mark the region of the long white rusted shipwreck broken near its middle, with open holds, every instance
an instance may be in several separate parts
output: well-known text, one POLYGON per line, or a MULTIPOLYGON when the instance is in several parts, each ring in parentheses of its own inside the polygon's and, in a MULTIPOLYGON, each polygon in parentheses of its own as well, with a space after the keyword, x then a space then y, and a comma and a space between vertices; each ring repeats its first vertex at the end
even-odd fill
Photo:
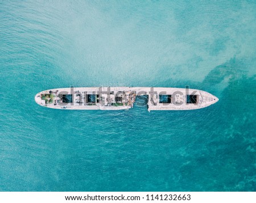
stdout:
POLYGON ((218 98, 208 92, 171 87, 70 87, 39 92, 35 102, 55 109, 70 110, 121 110, 147 105, 153 110, 191 110, 208 107, 218 98))

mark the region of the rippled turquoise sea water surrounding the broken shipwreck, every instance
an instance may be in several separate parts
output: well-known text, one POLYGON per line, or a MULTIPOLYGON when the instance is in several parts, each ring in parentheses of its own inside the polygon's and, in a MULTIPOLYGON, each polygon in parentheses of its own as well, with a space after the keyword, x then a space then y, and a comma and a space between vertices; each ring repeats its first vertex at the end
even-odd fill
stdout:
POLYGON ((0 3, 0 191, 256 191, 255 1, 0 3), (69 86, 199 88, 196 111, 59 111, 69 86))

